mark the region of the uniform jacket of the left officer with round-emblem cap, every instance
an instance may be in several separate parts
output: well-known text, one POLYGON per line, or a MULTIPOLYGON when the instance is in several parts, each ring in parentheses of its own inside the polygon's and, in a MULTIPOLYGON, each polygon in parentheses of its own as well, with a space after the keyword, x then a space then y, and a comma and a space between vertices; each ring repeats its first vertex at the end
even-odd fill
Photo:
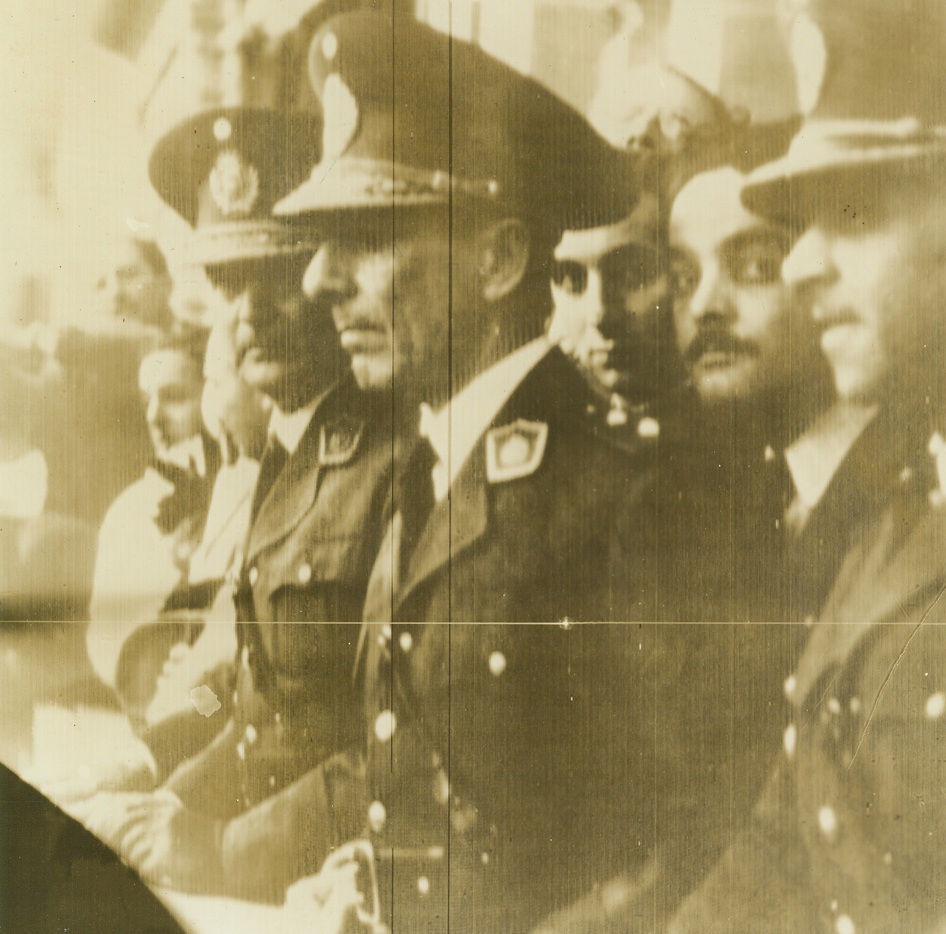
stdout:
POLYGON ((359 627, 344 623, 361 617, 383 531, 393 456, 384 412, 353 382, 330 391, 262 501, 236 600, 231 723, 170 779, 185 803, 232 818, 224 863, 243 895, 281 899, 353 829, 345 809, 360 796, 362 765, 346 750, 361 739, 359 627))

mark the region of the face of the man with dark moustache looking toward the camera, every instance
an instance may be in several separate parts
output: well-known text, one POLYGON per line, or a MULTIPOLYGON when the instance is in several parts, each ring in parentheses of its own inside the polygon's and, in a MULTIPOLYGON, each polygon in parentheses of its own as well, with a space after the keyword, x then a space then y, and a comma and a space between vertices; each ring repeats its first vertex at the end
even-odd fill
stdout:
POLYGON ((791 312, 782 281, 789 234, 742 206, 742 184, 733 168, 704 172, 670 214, 677 346, 707 403, 777 392, 816 359, 810 319, 791 312))

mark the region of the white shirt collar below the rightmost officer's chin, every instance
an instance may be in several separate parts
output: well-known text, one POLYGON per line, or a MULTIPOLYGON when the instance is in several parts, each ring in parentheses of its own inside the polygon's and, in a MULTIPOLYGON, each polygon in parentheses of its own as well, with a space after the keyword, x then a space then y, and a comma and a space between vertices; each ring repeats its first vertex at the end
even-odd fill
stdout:
POLYGON ((877 415, 878 406, 836 402, 785 449, 785 462, 799 500, 811 510, 821 501, 854 443, 877 415))

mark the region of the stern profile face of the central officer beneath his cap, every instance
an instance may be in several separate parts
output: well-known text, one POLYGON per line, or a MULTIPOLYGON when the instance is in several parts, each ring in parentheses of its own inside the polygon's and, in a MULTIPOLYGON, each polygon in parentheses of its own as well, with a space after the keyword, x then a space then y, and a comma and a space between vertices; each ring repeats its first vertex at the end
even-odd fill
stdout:
POLYGON ((469 294, 465 238, 451 238, 439 207, 344 212, 331 224, 304 290, 331 309, 358 385, 442 396, 451 347, 462 343, 450 322, 462 322, 469 294))

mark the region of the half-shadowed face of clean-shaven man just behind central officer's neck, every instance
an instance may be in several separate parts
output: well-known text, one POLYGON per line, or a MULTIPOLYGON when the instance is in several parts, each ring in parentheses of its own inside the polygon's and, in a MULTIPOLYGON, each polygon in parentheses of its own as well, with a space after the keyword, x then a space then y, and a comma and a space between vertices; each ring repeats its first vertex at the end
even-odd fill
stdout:
POLYGON ((555 248, 549 335, 607 389, 654 388, 661 306, 668 313, 663 241, 657 198, 645 193, 625 221, 566 231, 555 248))

